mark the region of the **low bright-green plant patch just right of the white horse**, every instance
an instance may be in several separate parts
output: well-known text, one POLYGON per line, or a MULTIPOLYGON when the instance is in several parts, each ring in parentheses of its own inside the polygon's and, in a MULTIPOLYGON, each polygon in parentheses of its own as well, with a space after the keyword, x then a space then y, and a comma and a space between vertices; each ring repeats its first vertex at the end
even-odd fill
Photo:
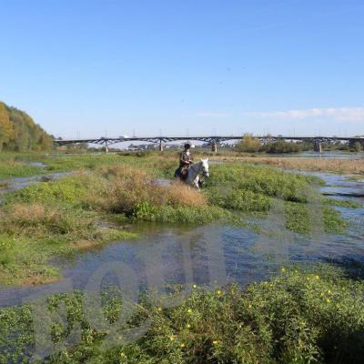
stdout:
MULTIPOLYGON (((308 213, 312 197, 322 200, 323 205, 357 207, 348 201, 337 204, 336 200, 321 198, 318 187, 323 181, 317 177, 294 175, 274 167, 231 163, 212 167, 211 176, 205 192, 211 205, 267 217, 278 198, 285 201, 282 218, 286 219, 286 227, 298 234, 312 230, 308 213)), ((332 207, 318 205, 316 208, 321 210, 325 232, 340 234, 348 227, 332 207)))

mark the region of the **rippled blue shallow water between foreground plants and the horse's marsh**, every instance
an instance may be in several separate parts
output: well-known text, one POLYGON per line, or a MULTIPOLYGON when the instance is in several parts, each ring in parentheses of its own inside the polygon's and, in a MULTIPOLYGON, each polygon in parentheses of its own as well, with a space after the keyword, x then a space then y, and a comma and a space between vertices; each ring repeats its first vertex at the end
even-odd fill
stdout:
MULTIPOLYGON (((364 181, 350 181, 345 176, 326 173, 310 174, 326 180, 327 186, 321 192, 364 204, 364 181)), ((116 277, 119 285, 135 280, 137 289, 191 282, 214 285, 237 281, 246 285, 267 278, 289 262, 354 260, 364 263, 364 205, 338 209, 349 219, 349 230, 343 235, 317 233, 311 238, 285 231, 283 219, 274 214, 262 221, 272 232, 269 236, 247 228, 219 225, 136 226, 142 230, 142 238, 115 242, 55 261, 64 276, 56 284, 0 288, 0 307, 19 304, 33 295, 88 289, 94 284, 106 287, 115 284, 116 277), (114 273, 107 273, 108 268, 114 273)))

